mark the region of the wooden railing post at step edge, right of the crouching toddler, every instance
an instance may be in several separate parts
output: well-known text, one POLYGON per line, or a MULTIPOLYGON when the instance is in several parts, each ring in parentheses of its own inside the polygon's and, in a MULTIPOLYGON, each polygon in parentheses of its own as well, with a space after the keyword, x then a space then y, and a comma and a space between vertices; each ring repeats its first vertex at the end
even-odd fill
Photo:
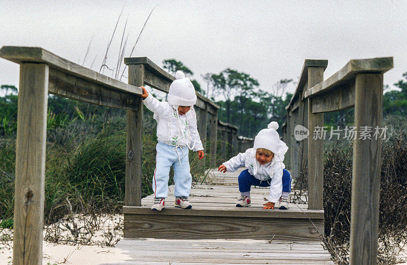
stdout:
MULTIPOLYGON (((308 87, 324 81, 324 67, 308 67, 308 87)), ((313 139, 315 127, 324 126, 324 113, 312 113, 308 99, 308 209, 324 209, 324 140, 313 139)))

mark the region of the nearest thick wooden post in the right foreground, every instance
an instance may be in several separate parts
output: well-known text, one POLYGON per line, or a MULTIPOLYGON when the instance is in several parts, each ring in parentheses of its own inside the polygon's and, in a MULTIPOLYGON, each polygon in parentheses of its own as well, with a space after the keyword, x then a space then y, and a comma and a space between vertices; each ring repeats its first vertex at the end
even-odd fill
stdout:
POLYGON ((358 74, 355 87, 350 263, 376 264, 382 141, 373 132, 383 126, 383 74, 358 74), (363 126, 371 139, 361 137, 363 126))

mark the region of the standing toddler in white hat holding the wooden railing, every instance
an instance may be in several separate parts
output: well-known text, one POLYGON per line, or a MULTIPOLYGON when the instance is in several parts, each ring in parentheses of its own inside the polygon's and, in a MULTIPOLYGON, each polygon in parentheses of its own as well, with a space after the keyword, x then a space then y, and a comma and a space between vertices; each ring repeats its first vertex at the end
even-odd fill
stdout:
POLYGON ((195 89, 182 71, 177 71, 175 77, 176 80, 169 86, 168 102, 158 101, 146 88, 141 87, 143 103, 157 120, 158 143, 153 176, 155 200, 151 207, 155 211, 161 211, 165 207, 171 165, 174 169, 175 206, 192 208, 188 200, 192 184, 188 149, 198 152, 198 159, 202 159, 204 155, 193 108, 196 103, 195 89))

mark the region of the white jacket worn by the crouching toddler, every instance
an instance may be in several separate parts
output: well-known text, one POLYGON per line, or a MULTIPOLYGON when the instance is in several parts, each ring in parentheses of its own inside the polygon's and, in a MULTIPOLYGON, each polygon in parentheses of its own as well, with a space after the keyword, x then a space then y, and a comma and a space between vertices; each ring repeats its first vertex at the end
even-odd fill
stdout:
POLYGON ((270 181, 271 179, 269 202, 278 202, 283 190, 281 179, 285 165, 277 156, 274 156, 270 163, 261 165, 256 159, 256 150, 249 148, 246 152, 239 153, 237 156, 230 158, 223 165, 229 172, 234 172, 241 167, 245 167, 258 180, 270 181))

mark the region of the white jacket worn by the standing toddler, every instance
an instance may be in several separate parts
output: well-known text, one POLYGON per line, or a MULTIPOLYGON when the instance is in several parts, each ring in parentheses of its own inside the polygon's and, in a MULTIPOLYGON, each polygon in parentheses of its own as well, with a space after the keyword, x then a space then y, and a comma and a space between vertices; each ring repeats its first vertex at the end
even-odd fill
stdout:
POLYGON ((193 106, 186 114, 180 116, 178 110, 166 101, 158 101, 151 93, 143 100, 144 105, 154 112, 157 121, 157 138, 171 146, 188 146, 194 152, 203 150, 193 106))

